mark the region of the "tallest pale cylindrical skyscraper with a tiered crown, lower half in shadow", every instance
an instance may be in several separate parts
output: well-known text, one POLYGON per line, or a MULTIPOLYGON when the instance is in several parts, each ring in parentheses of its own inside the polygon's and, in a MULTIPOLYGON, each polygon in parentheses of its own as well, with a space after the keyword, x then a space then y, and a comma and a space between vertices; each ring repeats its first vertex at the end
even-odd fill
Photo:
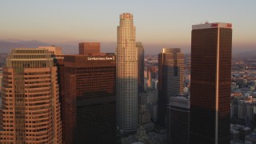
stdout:
POLYGON ((138 49, 132 14, 120 14, 116 54, 117 126, 134 133, 138 127, 138 49))

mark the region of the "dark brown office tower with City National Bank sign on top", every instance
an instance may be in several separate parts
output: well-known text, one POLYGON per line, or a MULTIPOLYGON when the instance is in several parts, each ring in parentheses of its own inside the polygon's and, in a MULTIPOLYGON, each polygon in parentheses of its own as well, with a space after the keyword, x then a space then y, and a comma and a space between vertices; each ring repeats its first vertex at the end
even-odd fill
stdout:
POLYGON ((115 55, 66 55, 64 70, 63 143, 115 143, 115 55))

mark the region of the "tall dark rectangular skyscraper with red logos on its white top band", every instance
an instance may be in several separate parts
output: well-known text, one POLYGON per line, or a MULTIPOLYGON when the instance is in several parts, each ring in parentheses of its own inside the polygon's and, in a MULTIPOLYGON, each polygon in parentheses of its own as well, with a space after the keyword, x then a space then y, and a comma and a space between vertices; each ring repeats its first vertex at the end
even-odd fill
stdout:
POLYGON ((231 27, 192 26, 190 143, 230 143, 231 27))

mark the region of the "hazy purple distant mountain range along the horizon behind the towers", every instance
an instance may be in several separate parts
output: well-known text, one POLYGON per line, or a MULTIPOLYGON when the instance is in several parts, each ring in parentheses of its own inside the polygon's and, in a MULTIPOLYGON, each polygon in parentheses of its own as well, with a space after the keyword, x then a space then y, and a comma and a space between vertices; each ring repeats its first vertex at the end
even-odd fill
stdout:
MULTIPOLYGON (((61 46, 63 54, 78 54, 78 42, 63 42, 50 44, 47 42, 40 42, 38 40, 22 41, 18 39, 0 39, 0 53, 10 53, 11 49, 18 47, 38 47, 38 46, 61 46)), ((145 54, 158 54, 162 50, 162 45, 160 44, 143 44, 145 48, 145 54)), ((101 50, 105 53, 114 53, 116 48, 116 42, 101 42, 101 50)), ((183 53, 190 54, 190 48, 182 48, 183 53), (184 51, 185 50, 185 51, 184 51)), ((256 57, 256 50, 250 50, 245 52, 239 52, 238 48, 233 49, 233 55, 237 57, 256 57)), ((241 51, 241 50, 240 50, 241 51)))

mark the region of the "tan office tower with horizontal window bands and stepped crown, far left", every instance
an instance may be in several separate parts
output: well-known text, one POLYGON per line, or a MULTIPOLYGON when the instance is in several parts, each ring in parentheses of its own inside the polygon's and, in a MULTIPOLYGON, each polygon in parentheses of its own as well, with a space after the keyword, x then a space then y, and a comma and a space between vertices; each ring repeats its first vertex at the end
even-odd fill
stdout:
POLYGON ((45 49, 14 49, 2 78, 0 143, 62 143, 58 75, 45 49))

